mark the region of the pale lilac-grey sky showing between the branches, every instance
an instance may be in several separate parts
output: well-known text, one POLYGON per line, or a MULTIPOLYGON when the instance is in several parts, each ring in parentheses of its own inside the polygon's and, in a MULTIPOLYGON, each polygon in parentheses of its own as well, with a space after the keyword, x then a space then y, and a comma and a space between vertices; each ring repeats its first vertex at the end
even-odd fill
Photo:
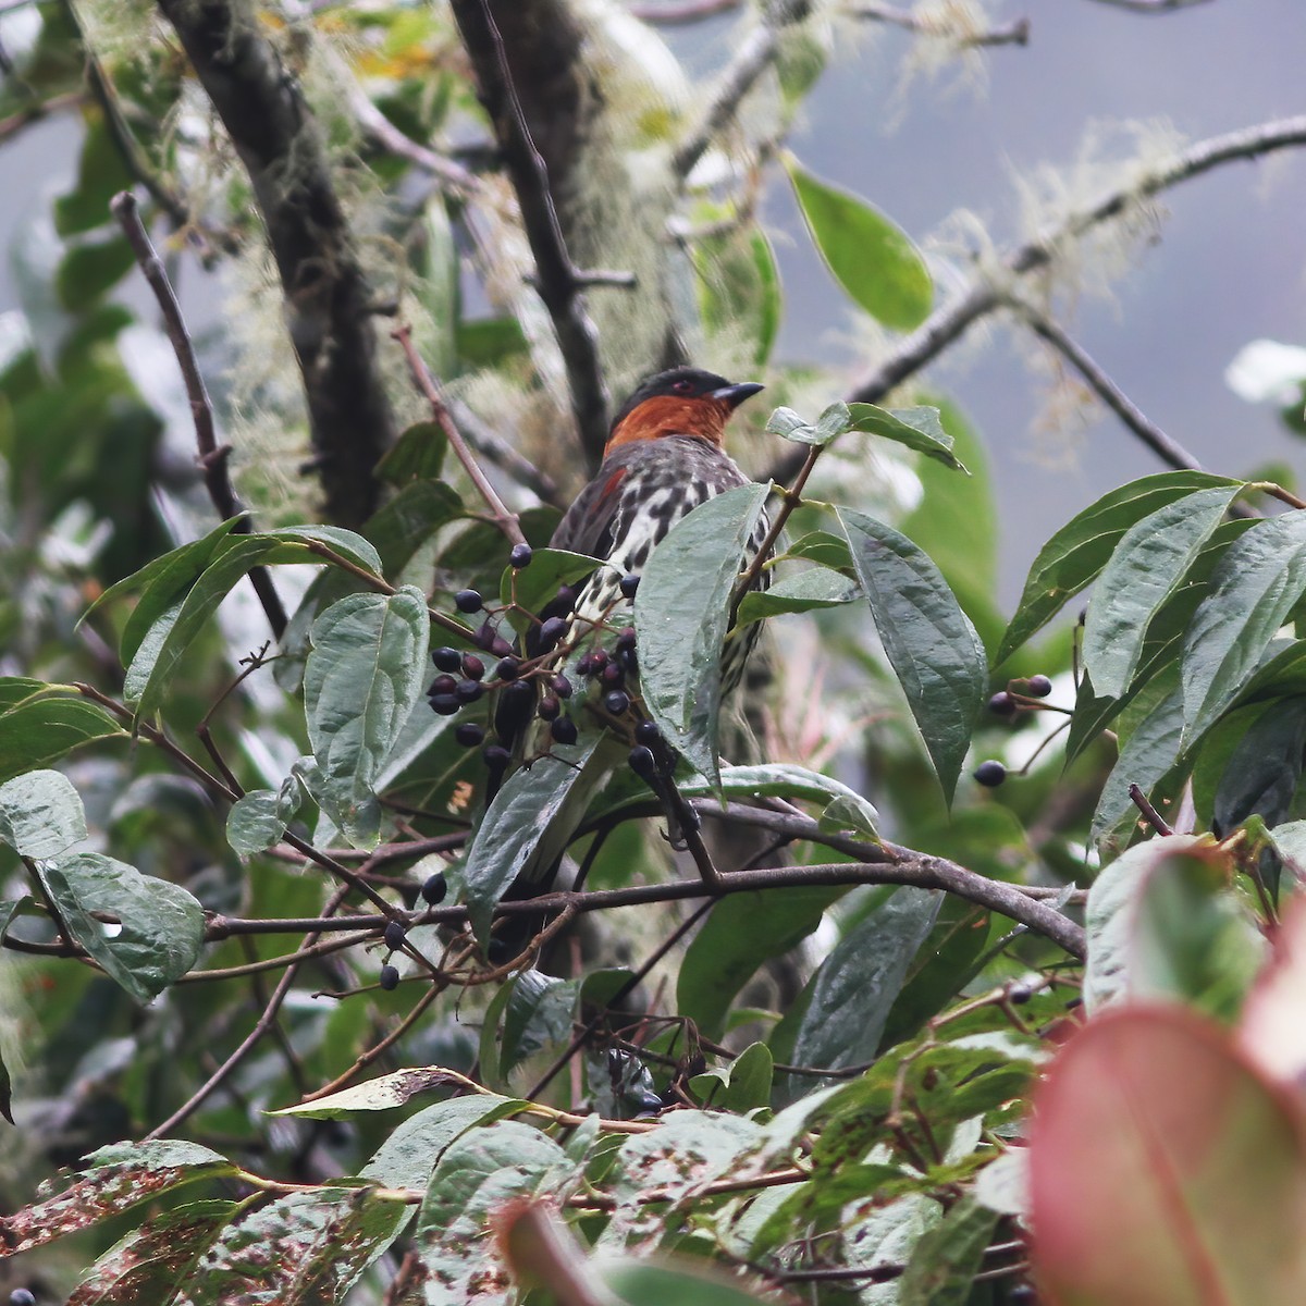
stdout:
MULTIPOLYGON (((1007 0, 998 21, 1025 16, 1029 46, 987 51, 987 88, 955 88, 944 71, 896 99, 910 38, 876 33, 837 60, 793 138, 803 163, 878 204, 923 238, 953 209, 977 213, 1000 244, 1019 238, 1013 170, 1074 159, 1091 120, 1168 119, 1191 140, 1306 111, 1306 0, 1209 0, 1138 14, 1098 0, 1007 0), (895 116, 901 121, 887 129, 895 116)), ((700 73, 729 59, 729 20, 670 31, 700 73)), ((76 166, 71 120, 29 128, 5 146, 0 244, 76 166)), ((1306 445, 1269 407, 1225 385, 1249 341, 1306 345, 1306 149, 1233 165, 1169 192, 1160 243, 1115 283, 1115 303, 1085 300, 1081 343, 1168 434, 1212 470, 1289 462, 1306 481, 1306 445)), ((772 187, 765 213, 794 234, 777 240, 786 315, 777 357, 848 363, 841 293, 801 234, 793 201, 772 187)), ((191 286, 193 287, 193 278, 191 286)), ((189 287, 188 287, 189 289, 189 287)), ((193 291, 192 291, 193 294, 193 291)), ((188 296, 189 298, 189 296, 188 296)), ((8 264, 0 311, 14 303, 8 264)), ((985 435, 998 471, 1003 603, 1011 607, 1038 545, 1113 486, 1161 470, 1111 418, 1084 438, 1077 461, 1036 461, 1030 424, 1040 388, 1010 337, 965 349, 934 375, 985 435)))

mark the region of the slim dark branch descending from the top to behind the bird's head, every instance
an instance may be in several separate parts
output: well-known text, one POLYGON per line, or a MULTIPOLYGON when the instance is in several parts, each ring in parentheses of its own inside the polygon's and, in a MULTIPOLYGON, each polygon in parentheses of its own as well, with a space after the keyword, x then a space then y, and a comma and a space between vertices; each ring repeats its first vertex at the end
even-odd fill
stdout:
POLYGON ((607 388, 598 359, 598 336, 585 310, 582 278, 567 252, 549 170, 530 136, 488 0, 452 0, 452 9, 475 68, 481 103, 490 115, 517 193, 526 240, 535 260, 537 289, 567 368, 581 445, 597 461, 607 441, 607 388))

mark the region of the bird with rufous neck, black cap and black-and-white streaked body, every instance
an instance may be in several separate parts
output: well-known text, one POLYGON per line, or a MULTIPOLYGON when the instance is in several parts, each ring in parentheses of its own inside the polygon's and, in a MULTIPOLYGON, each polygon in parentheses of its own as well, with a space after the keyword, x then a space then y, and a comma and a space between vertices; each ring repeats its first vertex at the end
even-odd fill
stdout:
MULTIPOLYGON (((653 549, 682 517, 716 495, 750 483, 725 451, 725 432, 735 409, 763 388, 756 381, 731 383, 696 367, 674 367, 646 377, 616 410, 598 470, 554 530, 549 542, 551 549, 597 558, 601 565, 577 590, 564 588, 560 606, 546 607, 539 614, 539 624, 528 635, 528 660, 546 657, 550 652, 555 654, 551 663, 546 661, 546 674, 537 677, 537 683, 560 673, 572 658, 571 667, 582 675, 596 675, 601 666, 606 675, 602 683, 615 686, 618 705, 629 703, 629 708, 614 713, 607 708, 610 696, 599 696, 607 708, 605 739, 589 754, 582 776, 568 791, 565 807, 541 833, 504 895, 505 900, 547 892, 562 854, 594 797, 622 757, 629 756, 633 765, 631 744, 640 738, 641 712, 633 629, 629 627, 639 575, 653 549), (605 645, 611 646, 611 653, 605 645), (599 652, 582 656, 577 667, 575 654, 582 648, 599 652), (586 657, 590 660, 588 666, 586 657)), ((763 547, 768 530, 769 522, 763 513, 750 539, 747 560, 751 562, 763 547)), ((764 586, 768 579, 763 571, 755 584, 764 586)), ((757 632, 755 623, 726 641, 721 658, 722 696, 738 686, 757 632)), ((518 687, 508 687, 495 717, 499 755, 504 761, 508 750, 515 748, 518 764, 530 767, 534 757, 549 751, 550 737, 563 744, 575 742, 572 717, 556 714, 556 700, 549 708, 549 725, 543 730, 537 725, 532 733, 530 721, 537 709, 541 717, 545 716, 545 701, 538 697, 534 684, 530 692, 520 682, 518 687)), ((662 802, 669 838, 678 846, 683 824, 696 823, 697 818, 679 798, 670 778, 674 756, 665 744, 658 752, 656 772, 644 778, 662 802)), ((494 806, 491 801, 486 821, 494 806)), ((515 943, 521 942, 520 930, 503 934, 511 934, 515 943)))

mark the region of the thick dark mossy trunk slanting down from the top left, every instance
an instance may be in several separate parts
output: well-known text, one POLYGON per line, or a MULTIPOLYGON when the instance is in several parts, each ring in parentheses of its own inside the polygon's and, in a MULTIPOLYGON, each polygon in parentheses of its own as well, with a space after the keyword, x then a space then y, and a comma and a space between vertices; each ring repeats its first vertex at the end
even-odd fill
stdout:
POLYGON ((330 517, 359 526, 394 434, 376 338, 326 150, 249 0, 158 0, 249 172, 303 375, 330 517))

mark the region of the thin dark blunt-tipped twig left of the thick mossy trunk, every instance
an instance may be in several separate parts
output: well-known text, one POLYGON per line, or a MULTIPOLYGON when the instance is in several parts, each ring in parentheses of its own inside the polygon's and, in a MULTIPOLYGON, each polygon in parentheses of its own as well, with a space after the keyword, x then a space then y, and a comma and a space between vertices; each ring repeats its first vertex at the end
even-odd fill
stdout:
MULTIPOLYGON (((204 486, 209 491, 209 499, 218 516, 226 521, 244 512, 244 508, 236 499, 231 478, 227 475, 227 456, 231 453, 231 447, 218 445, 213 422, 213 404, 209 401, 209 390, 204 384, 204 375, 200 372, 200 360, 195 355, 195 343, 187 330, 185 320, 182 317, 182 306, 176 300, 172 283, 167 279, 163 260, 155 253, 145 223, 141 221, 136 196, 131 191, 120 191, 108 201, 108 208, 118 218, 159 306, 163 328, 167 332, 172 353, 176 355, 178 366, 182 368, 185 397, 191 402, 191 419, 195 422, 195 443, 199 448, 197 461, 204 474, 204 486)), ((242 517, 232 528, 232 534, 249 534, 251 530, 249 518, 242 517)), ((279 640, 286 629, 286 609, 272 582, 268 568, 251 567, 249 584, 253 585, 253 592, 259 596, 259 603, 268 618, 272 633, 279 640)))

